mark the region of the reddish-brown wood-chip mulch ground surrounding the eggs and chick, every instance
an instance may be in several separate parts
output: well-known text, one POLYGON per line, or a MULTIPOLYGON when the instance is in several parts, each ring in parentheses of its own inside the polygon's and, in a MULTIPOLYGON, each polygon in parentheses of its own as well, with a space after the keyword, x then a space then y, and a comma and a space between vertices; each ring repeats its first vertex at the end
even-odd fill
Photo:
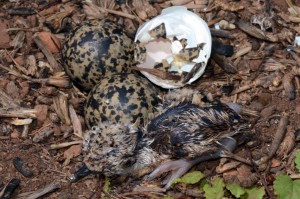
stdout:
POLYGON ((255 142, 237 150, 248 164, 226 158, 193 169, 208 179, 219 175, 226 183, 264 185, 269 198, 277 174, 299 178, 294 165, 300 144, 298 1, 5 0, 0 5, 1 198, 204 197, 196 185, 178 184, 165 192, 158 182, 142 179, 112 179, 107 185, 100 177, 101 186, 96 177, 69 181, 83 160, 88 93, 64 73, 60 52, 66 33, 84 20, 110 19, 134 37, 144 22, 174 5, 201 16, 213 39, 234 51, 213 54, 204 76, 189 87, 260 113, 250 119, 255 142))

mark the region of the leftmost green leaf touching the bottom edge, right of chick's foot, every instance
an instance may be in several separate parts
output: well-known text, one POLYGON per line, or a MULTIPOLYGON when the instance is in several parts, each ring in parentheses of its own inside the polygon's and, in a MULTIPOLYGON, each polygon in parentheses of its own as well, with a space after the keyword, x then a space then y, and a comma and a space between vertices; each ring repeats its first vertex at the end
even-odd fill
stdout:
POLYGON ((211 185, 205 184, 203 190, 205 192, 206 199, 221 199, 224 196, 225 184, 223 179, 217 178, 211 181, 211 185))

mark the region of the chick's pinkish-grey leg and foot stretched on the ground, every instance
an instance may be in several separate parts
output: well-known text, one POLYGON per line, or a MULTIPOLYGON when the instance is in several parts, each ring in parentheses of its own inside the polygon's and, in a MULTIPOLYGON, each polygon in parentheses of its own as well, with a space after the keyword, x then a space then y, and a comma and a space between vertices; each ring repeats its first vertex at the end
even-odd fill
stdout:
POLYGON ((219 141, 221 149, 217 152, 209 155, 203 155, 194 160, 175 160, 169 161, 158 166, 149 176, 148 180, 153 180, 163 173, 170 172, 168 176, 162 181, 162 184, 165 185, 165 188, 168 189, 172 185, 172 182, 175 178, 179 178, 184 175, 188 170, 190 170, 193 166, 199 164, 200 162, 214 160, 222 157, 224 154, 223 151, 232 152, 237 145, 237 142, 232 137, 227 137, 219 141))

